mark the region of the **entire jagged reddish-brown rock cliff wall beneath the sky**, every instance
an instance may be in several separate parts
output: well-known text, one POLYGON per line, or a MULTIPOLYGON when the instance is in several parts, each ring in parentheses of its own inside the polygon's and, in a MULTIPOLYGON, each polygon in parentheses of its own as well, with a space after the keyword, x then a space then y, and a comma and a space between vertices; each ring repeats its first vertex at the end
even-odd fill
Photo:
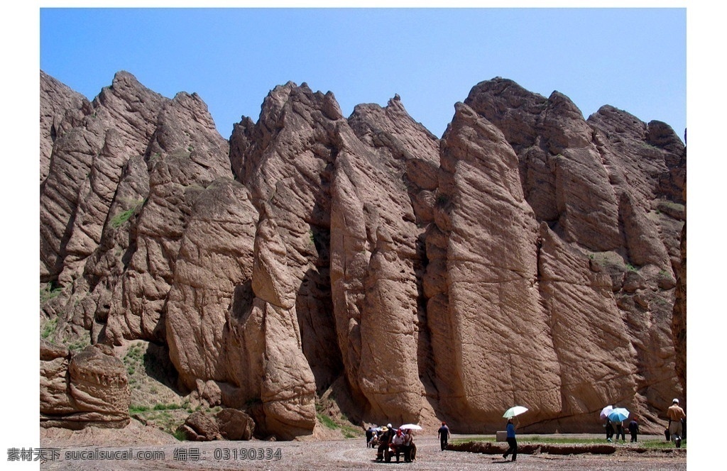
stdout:
MULTIPOLYGON (((525 431, 581 432, 614 403, 656 430, 686 394, 667 124, 496 78, 438 139, 398 96, 346 118, 288 83, 225 139, 201 97, 126 72, 91 102, 40 92, 48 358, 149 342, 177 395, 283 439, 324 397, 356 424, 494 431, 519 404, 525 431)), ((78 417, 53 397, 45 420, 78 417)))

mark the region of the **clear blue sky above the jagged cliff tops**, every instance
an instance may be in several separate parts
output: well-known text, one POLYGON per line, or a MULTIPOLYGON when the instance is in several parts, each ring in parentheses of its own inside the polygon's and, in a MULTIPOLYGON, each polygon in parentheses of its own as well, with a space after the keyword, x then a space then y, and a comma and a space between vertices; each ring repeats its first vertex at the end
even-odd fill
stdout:
POLYGON ((566 94, 587 118, 613 105, 686 127, 686 9, 40 10, 40 67, 89 98, 125 70, 197 92, 223 137, 268 91, 308 83, 345 116, 399 94, 441 136, 479 81, 566 94))

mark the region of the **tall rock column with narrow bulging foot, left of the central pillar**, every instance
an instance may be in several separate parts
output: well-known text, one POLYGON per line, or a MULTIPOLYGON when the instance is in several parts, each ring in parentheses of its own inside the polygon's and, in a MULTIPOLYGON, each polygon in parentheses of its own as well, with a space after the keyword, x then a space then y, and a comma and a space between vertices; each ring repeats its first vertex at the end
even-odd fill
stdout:
POLYGON ((257 383, 248 394, 262 402, 264 427, 284 438, 312 432, 315 375, 326 387, 340 369, 326 286, 330 136, 338 119, 332 94, 289 83, 268 94, 256 125, 244 120, 230 138, 233 170, 260 212, 254 298, 241 307, 246 322, 230 323, 233 345, 258 345, 243 349, 252 368, 233 374, 238 385, 257 383))

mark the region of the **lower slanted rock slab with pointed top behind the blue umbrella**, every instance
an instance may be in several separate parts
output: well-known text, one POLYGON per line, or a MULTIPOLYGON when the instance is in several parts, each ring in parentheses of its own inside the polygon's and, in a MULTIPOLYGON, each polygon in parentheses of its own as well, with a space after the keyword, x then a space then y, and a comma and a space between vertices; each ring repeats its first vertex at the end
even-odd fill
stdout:
POLYGON ((611 278, 593 271, 582 252, 564 243, 545 223, 540 226, 538 270, 560 366, 561 427, 578 427, 569 422, 602 407, 604 400, 628 401, 624 405, 632 408, 636 352, 616 306, 611 278))

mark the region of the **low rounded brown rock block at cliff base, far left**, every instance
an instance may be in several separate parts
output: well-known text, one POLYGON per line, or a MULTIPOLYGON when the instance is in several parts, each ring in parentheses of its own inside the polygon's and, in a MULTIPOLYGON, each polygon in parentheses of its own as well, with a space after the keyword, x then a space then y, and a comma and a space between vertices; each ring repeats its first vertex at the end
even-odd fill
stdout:
POLYGON ((108 345, 79 353, 41 339, 41 426, 81 429, 129 424, 126 369, 108 345))

